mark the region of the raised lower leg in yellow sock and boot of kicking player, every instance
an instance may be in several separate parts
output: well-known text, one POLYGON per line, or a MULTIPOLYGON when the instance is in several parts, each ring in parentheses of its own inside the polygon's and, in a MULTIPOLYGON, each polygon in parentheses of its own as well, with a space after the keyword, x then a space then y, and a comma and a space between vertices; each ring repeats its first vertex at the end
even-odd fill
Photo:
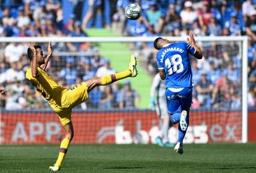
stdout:
POLYGON ((134 78, 138 74, 136 65, 137 65, 136 57, 134 57, 134 55, 131 55, 129 67, 126 71, 122 71, 121 73, 108 74, 106 76, 103 76, 101 78, 100 85, 105 86, 105 85, 111 84, 115 81, 118 81, 120 79, 124 79, 127 77, 134 78))

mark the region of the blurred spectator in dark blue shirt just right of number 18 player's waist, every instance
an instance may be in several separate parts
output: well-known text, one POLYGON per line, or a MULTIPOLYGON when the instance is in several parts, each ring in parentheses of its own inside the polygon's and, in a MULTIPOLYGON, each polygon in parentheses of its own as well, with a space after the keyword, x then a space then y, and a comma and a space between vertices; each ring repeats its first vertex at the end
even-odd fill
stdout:
POLYGON ((200 105, 202 107, 210 107, 213 84, 211 84, 211 81, 208 81, 207 73, 201 73, 201 80, 197 82, 195 91, 197 91, 197 99, 200 105))

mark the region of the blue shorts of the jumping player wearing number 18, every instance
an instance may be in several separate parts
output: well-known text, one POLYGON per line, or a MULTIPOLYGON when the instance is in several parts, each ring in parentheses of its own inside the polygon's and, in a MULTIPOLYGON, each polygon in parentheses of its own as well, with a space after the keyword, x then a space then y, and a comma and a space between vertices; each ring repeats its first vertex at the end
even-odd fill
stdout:
POLYGON ((185 87, 182 91, 173 92, 166 89, 166 102, 168 107, 168 113, 174 114, 182 110, 189 111, 192 104, 192 87, 185 87))

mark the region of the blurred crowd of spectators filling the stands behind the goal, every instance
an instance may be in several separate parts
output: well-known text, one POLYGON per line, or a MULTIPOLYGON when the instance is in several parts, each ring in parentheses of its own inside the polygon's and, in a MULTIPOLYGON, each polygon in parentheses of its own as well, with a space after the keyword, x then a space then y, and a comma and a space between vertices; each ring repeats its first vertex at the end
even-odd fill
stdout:
MULTIPOLYGON (((6 1, 7 2, 7 1, 6 1)), ((9 2, 9 1, 8 1, 9 2)), ((249 36, 249 107, 256 107, 256 1, 176 1, 176 0, 92 0, 87 12, 81 9, 87 1, 69 1, 74 11, 67 14, 67 1, 24 0, 1 4, 0 36, 49 37, 88 36, 87 28, 113 28, 123 36, 249 36), (126 20, 124 8, 130 2, 142 7, 142 18, 126 20)), ((46 49, 46 45, 42 45, 46 49)), ((194 96, 192 108, 241 108, 241 52, 237 42, 204 42, 200 44, 203 60, 192 58, 194 96)), ((149 74, 157 71, 156 50, 152 42, 137 42, 134 46, 142 65, 149 74)), ((48 108, 48 103, 25 80, 29 67, 27 46, 20 43, 1 43, 0 84, 6 94, 0 96, 0 107, 7 110, 48 108)), ((90 43, 55 43, 54 52, 77 52, 83 55, 54 54, 48 67, 49 74, 59 84, 72 87, 92 76, 114 73, 111 62, 101 57, 90 43), (59 73, 51 73, 59 71, 59 73)), ((86 108, 139 108, 140 95, 124 86, 97 88, 89 100, 80 106, 86 108)), ((150 101, 150 100, 149 100, 150 101)))

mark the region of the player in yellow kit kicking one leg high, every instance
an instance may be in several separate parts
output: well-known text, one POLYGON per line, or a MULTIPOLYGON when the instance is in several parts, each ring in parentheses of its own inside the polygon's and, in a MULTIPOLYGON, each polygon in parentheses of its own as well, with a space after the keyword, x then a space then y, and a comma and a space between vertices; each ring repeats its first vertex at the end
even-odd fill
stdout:
POLYGON ((129 68, 121 73, 109 74, 101 78, 93 77, 88 81, 81 82, 72 89, 59 86, 54 79, 46 73, 45 69, 49 58, 53 52, 50 42, 48 43, 48 55, 45 57, 41 47, 33 46, 31 42, 27 42, 29 47, 27 50, 30 59, 30 68, 26 72, 26 78, 33 84, 36 91, 45 97, 49 105, 58 114, 64 131, 65 138, 61 142, 59 156, 54 164, 50 166, 51 171, 58 171, 61 168, 64 156, 67 153, 70 141, 74 137, 74 130, 71 121, 72 108, 76 107, 88 99, 88 92, 96 86, 105 86, 120 79, 137 76, 137 62, 134 55, 130 57, 129 68))

